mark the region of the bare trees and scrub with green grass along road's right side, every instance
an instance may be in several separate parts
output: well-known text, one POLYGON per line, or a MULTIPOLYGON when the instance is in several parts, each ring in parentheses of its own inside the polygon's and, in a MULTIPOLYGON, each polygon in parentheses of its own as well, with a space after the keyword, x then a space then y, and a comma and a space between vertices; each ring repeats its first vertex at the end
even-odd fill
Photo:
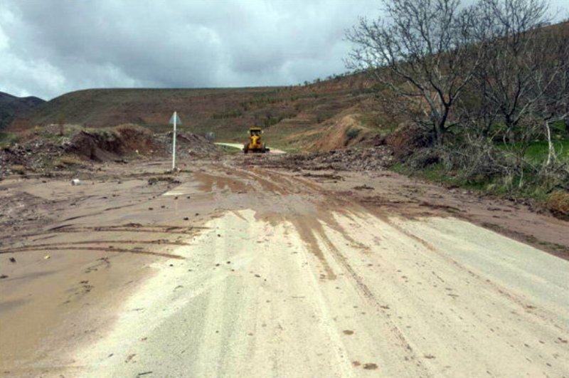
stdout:
POLYGON ((544 0, 384 5, 347 33, 349 68, 404 117, 395 169, 569 216, 569 24, 544 0))

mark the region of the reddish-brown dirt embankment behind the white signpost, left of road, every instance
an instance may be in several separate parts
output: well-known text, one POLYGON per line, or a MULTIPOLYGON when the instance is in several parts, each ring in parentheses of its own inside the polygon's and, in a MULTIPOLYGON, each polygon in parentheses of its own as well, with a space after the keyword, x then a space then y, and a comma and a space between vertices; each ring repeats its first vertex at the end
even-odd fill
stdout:
MULTIPOLYGON (((0 150, 0 176, 39 173, 87 167, 92 162, 125 162, 127 159, 167 157, 172 149, 172 132, 156 134, 137 125, 88 130, 50 125, 24 132, 22 142, 0 150)), ((179 132, 176 154, 217 154, 216 146, 204 137, 179 132)))

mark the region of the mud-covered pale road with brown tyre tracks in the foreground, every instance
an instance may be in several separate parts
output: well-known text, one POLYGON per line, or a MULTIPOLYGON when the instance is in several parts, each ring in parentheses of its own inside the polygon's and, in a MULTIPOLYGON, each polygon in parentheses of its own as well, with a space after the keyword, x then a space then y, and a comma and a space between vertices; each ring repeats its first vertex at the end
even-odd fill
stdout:
POLYGON ((569 375, 567 222, 263 159, 0 182, 0 374, 569 375))

